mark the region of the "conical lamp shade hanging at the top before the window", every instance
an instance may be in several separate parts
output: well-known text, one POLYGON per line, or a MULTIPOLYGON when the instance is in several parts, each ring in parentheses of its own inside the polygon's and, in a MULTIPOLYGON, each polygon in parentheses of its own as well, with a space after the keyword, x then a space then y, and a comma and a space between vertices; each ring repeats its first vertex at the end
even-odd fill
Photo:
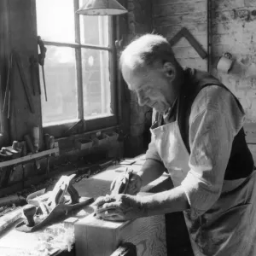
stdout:
POLYGON ((88 0, 76 13, 79 15, 123 15, 127 12, 127 9, 116 0, 88 0))

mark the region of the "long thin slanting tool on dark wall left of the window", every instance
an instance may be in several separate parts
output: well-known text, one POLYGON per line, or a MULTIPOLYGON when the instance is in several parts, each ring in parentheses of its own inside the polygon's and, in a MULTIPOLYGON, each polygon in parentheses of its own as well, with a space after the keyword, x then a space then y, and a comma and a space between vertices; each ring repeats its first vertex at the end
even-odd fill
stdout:
POLYGON ((31 113, 35 113, 35 108, 34 108, 34 105, 33 105, 33 102, 32 102, 32 96, 31 96, 29 87, 26 83, 25 72, 24 72, 24 69, 23 69, 21 61, 20 61, 20 55, 15 50, 13 50, 13 59, 14 59, 16 65, 17 65, 19 73, 20 73, 20 78, 21 78, 23 88, 24 88, 25 94, 26 94, 26 101, 28 103, 30 111, 31 111, 31 113))

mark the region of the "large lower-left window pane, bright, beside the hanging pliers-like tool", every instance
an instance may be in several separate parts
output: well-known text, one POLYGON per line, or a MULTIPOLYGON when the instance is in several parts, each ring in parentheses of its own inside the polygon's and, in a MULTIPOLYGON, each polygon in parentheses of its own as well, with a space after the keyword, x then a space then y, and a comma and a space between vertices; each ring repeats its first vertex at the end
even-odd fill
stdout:
POLYGON ((40 67, 43 124, 67 123, 78 118, 78 91, 75 49, 47 46, 44 74, 48 101, 45 102, 40 67))

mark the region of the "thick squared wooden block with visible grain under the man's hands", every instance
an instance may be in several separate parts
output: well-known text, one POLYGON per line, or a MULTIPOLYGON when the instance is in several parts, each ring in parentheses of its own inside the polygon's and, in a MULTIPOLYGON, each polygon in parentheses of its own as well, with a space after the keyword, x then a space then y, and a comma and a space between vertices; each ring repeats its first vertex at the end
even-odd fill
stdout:
POLYGON ((96 219, 91 214, 74 228, 77 256, 109 256, 124 242, 137 247, 137 256, 167 255, 164 215, 120 223, 96 219))

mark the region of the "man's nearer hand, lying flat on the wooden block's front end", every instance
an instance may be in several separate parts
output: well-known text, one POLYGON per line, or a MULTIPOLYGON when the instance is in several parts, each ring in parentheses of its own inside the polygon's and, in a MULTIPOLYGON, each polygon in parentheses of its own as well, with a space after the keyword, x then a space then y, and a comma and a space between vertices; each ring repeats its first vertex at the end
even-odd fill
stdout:
POLYGON ((107 195, 99 197, 92 205, 96 218, 125 221, 147 216, 143 198, 135 195, 107 195))

